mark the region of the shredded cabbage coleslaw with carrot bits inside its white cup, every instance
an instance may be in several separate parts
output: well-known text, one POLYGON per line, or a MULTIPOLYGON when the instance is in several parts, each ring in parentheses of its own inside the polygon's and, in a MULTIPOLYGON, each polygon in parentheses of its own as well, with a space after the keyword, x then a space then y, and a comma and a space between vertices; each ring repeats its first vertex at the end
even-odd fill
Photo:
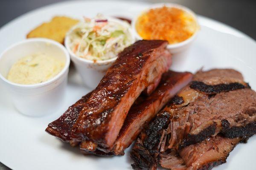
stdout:
POLYGON ((132 43, 128 23, 107 20, 101 14, 95 18, 84 18, 69 33, 70 48, 79 57, 90 60, 106 60, 132 43))

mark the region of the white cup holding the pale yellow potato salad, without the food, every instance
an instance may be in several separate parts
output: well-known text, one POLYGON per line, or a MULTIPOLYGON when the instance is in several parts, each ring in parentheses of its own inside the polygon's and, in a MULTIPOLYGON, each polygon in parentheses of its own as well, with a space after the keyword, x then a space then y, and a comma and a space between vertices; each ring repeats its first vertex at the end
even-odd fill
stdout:
POLYGON ((44 38, 32 38, 15 43, 0 55, 0 79, 18 111, 27 116, 45 116, 55 113, 63 102, 69 65, 70 57, 63 45, 44 38), (18 59, 38 53, 61 60, 65 63, 64 68, 52 79, 32 85, 17 84, 6 79, 18 59))

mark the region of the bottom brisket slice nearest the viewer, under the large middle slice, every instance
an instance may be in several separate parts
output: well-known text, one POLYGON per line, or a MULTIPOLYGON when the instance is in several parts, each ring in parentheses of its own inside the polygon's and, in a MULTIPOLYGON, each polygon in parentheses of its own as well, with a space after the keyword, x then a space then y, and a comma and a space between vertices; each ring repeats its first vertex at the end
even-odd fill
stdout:
POLYGON ((241 138, 208 137, 179 151, 160 154, 159 163, 171 170, 210 170, 226 162, 229 153, 241 138))

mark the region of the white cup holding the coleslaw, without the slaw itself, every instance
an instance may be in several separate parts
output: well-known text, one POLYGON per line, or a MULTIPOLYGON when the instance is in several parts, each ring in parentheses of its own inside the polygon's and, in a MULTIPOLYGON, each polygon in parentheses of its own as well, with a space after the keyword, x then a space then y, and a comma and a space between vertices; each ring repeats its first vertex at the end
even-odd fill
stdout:
MULTIPOLYGON (((111 22, 119 23, 126 28, 128 27, 128 32, 129 34, 131 34, 132 43, 135 42, 134 34, 131 31, 131 28, 129 28, 130 26, 127 22, 113 18, 113 17, 106 17, 106 18, 111 22)), ((76 26, 71 28, 70 32, 73 31, 73 29, 75 28, 76 26)), ((111 59, 99 60, 96 62, 93 62, 92 60, 89 60, 89 59, 78 57, 70 49, 70 38, 68 35, 69 35, 69 32, 67 33, 65 38, 65 46, 67 47, 67 50, 70 53, 71 60, 72 62, 74 62, 76 70, 81 76, 84 85, 86 85, 90 89, 94 89, 99 84, 100 80, 105 75, 106 71, 111 66, 111 64, 116 60, 117 56, 111 59)))

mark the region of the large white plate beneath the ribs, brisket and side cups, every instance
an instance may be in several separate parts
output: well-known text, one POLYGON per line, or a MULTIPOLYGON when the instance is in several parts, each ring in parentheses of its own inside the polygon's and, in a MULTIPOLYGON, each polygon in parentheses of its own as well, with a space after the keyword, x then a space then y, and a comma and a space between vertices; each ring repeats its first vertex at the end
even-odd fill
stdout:
MULTIPOLYGON (((25 39, 32 28, 55 15, 81 18, 81 15, 93 17, 101 12, 132 18, 145 6, 143 3, 75 1, 40 8, 18 17, 0 29, 0 52, 12 43, 25 39)), ((256 89, 256 42, 234 28, 208 18, 200 16, 199 23, 201 31, 186 55, 186 60, 176 56, 172 69, 194 72, 203 66, 236 68, 256 89)), ((125 156, 111 158, 83 156, 78 148, 72 148, 44 132, 49 122, 57 119, 68 106, 88 91, 81 86, 80 77, 71 69, 63 107, 51 116, 31 118, 15 110, 3 85, 0 85, 0 161, 13 170, 131 169, 128 150, 125 156)), ((255 153, 256 136, 253 136, 247 144, 239 144, 230 153, 226 164, 214 170, 252 170, 255 168, 255 153)))

